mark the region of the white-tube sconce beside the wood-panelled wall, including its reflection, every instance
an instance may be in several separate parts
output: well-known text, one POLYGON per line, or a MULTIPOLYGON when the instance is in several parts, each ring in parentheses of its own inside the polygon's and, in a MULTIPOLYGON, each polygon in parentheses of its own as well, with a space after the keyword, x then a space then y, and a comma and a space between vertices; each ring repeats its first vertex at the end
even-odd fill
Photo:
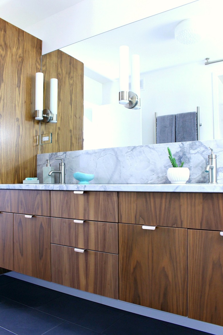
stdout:
POLYGON ((44 123, 57 123, 58 79, 50 79, 49 109, 43 110, 43 73, 37 72, 35 78, 35 120, 44 123))

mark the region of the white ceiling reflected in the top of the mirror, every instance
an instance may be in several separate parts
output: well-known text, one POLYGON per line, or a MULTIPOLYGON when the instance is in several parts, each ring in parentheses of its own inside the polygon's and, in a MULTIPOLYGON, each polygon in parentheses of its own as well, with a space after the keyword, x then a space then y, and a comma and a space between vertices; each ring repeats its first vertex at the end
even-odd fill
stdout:
POLYGON ((221 0, 198 0, 61 50, 82 61, 85 74, 99 82, 118 78, 121 45, 128 45, 130 54, 140 55, 141 73, 191 62, 205 62, 206 57, 210 61, 222 59, 222 11, 221 0), (187 18, 200 19, 204 24, 203 40, 196 45, 182 45, 174 38, 177 23, 187 18))

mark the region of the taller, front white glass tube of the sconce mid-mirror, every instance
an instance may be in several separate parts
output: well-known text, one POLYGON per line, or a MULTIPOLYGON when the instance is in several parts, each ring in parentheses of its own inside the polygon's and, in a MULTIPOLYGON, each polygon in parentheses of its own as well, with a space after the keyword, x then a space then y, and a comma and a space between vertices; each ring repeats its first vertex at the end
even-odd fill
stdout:
MULTIPOLYGON (((129 47, 119 48, 119 91, 128 92, 129 82, 129 47)), ((128 104, 128 100, 120 100, 119 104, 128 104)))

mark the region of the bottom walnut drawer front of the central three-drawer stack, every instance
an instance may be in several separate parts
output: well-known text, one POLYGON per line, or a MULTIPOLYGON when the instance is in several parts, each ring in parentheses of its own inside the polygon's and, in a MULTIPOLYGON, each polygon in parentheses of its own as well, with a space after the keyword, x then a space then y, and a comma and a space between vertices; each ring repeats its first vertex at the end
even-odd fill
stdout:
POLYGON ((51 245, 52 282, 118 299, 118 255, 51 245))

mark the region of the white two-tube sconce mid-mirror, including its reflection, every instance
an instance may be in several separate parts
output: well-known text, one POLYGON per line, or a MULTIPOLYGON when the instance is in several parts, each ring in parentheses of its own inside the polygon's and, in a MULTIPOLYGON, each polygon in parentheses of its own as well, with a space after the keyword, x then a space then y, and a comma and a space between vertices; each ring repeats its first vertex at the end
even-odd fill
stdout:
POLYGON ((139 55, 131 59, 131 89, 129 91, 129 48, 119 48, 119 104, 128 109, 140 109, 139 55))

